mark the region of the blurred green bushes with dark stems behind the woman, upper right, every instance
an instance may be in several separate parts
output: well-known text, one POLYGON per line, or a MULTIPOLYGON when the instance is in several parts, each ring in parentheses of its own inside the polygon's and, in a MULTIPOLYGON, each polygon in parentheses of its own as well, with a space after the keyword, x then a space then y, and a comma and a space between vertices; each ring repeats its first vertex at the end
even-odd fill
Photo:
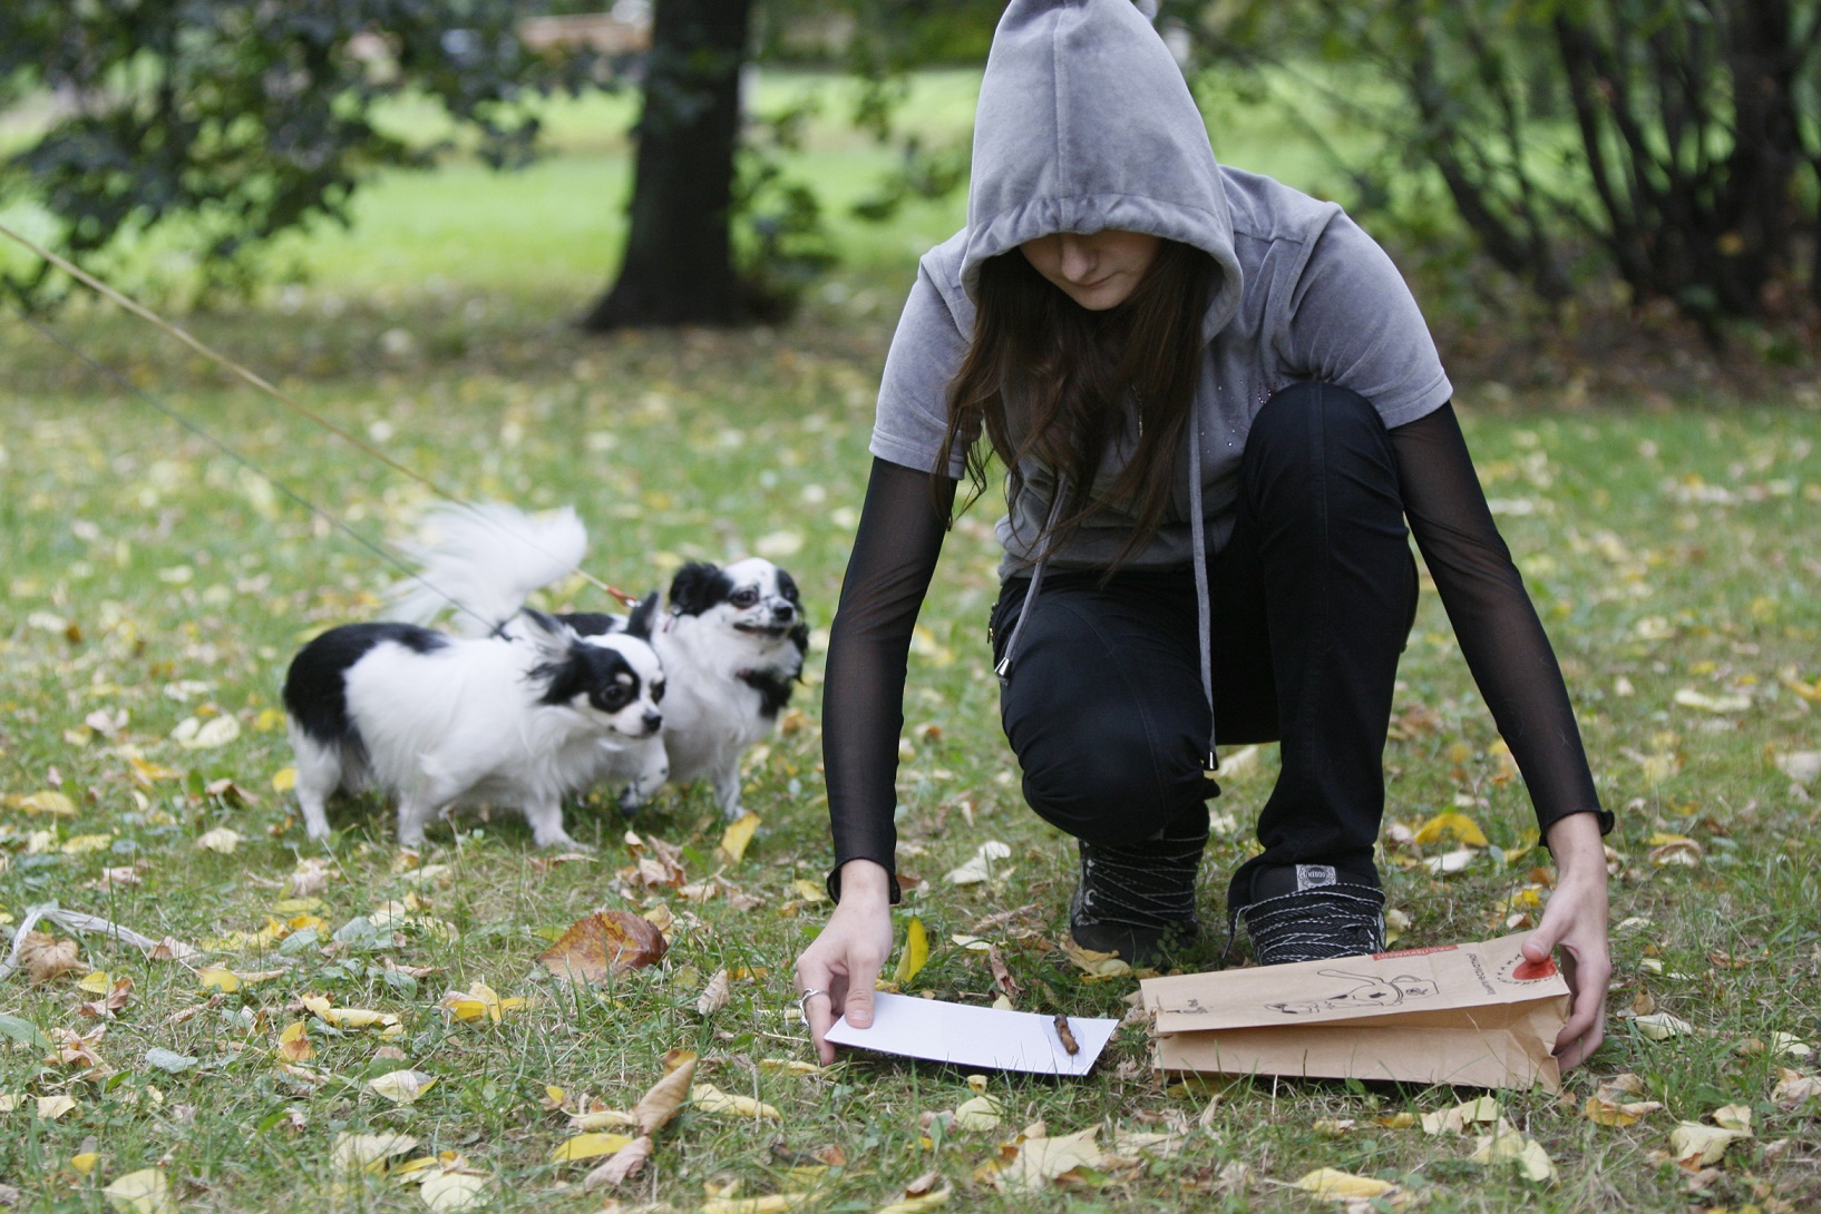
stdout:
MULTIPOLYGON (((1821 300, 1821 4, 1165 4, 1204 73, 1378 138, 1357 198, 1440 184, 1480 249, 1561 304, 1595 277, 1717 331, 1821 300)), ((1404 213, 1411 213, 1408 207, 1404 213)))

